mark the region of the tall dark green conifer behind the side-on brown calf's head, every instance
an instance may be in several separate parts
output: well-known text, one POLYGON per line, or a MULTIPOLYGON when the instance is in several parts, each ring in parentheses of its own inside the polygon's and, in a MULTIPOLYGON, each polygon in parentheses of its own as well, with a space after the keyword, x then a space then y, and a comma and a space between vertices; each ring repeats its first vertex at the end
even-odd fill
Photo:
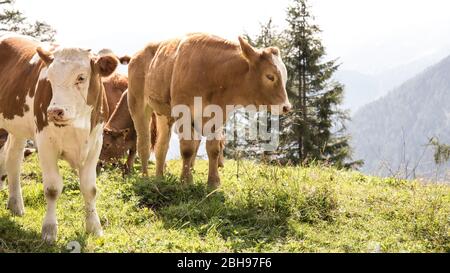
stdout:
MULTIPOLYGON (((345 128, 349 116, 340 108, 344 86, 333 78, 339 64, 337 60, 325 60, 321 30, 314 23, 307 0, 292 0, 286 21, 288 27, 283 31, 277 31, 270 20, 261 25, 254 38, 246 35, 255 47, 279 47, 288 69, 287 92, 294 110, 281 118, 281 144, 276 152, 270 153, 270 158, 294 165, 311 162, 325 162, 338 168, 362 165, 362 161, 351 161, 345 128)), ((255 147, 253 143, 251 146, 255 147)), ((247 154, 255 154, 253 150, 247 149, 247 154)))

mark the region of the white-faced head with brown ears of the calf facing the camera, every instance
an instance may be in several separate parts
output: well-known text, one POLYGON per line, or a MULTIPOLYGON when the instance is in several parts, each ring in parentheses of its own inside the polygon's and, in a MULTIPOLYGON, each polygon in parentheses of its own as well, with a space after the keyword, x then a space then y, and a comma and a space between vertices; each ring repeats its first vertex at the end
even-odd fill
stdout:
POLYGON ((45 76, 52 87, 47 118, 57 126, 71 125, 90 116, 103 92, 101 78, 111 75, 119 62, 113 54, 94 55, 79 48, 54 52, 38 48, 37 53, 47 65, 45 76))

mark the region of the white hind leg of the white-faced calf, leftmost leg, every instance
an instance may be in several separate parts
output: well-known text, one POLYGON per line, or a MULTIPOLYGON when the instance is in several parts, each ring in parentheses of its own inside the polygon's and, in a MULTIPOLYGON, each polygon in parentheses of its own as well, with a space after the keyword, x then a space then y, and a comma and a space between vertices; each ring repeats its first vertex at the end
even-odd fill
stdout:
POLYGON ((18 216, 22 216, 25 213, 22 189, 20 187, 20 166, 23 161, 25 141, 25 139, 17 138, 10 134, 5 145, 5 166, 9 185, 8 209, 18 216))

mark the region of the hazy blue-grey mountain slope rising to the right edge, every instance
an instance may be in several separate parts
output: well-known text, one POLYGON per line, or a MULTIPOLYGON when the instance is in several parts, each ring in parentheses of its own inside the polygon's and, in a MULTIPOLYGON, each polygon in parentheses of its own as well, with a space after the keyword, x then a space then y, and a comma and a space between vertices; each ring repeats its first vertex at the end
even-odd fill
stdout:
POLYGON ((432 178, 431 137, 450 143, 450 56, 358 110, 349 126, 355 159, 374 175, 432 178))

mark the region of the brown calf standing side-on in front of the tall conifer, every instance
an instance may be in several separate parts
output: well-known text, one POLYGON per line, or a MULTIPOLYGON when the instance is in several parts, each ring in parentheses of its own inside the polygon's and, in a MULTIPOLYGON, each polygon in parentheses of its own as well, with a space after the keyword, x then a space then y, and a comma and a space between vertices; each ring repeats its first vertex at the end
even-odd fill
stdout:
MULTIPOLYGON (((172 110, 178 105, 189 107, 194 122, 194 102, 202 98, 203 109, 209 105, 277 105, 289 111, 286 93, 287 70, 277 48, 255 49, 244 39, 239 43, 208 34, 190 34, 183 38, 151 43, 139 51, 128 67, 128 103, 137 137, 142 172, 147 175, 150 152, 149 124, 153 112, 158 114, 156 174, 163 175, 169 146, 172 110)), ((217 117, 225 123, 227 116, 217 117)), ((194 127, 194 126, 192 126, 194 127)), ((200 128, 203 129, 203 128, 200 128)), ((198 131, 198 128, 191 128, 198 131)), ((203 134, 203 130, 201 130, 203 134)), ((222 128, 215 128, 217 137, 209 138, 206 149, 209 158, 208 185, 220 185, 218 173, 222 128)), ((192 180, 191 166, 198 140, 181 139, 183 157, 182 181, 192 180)))

